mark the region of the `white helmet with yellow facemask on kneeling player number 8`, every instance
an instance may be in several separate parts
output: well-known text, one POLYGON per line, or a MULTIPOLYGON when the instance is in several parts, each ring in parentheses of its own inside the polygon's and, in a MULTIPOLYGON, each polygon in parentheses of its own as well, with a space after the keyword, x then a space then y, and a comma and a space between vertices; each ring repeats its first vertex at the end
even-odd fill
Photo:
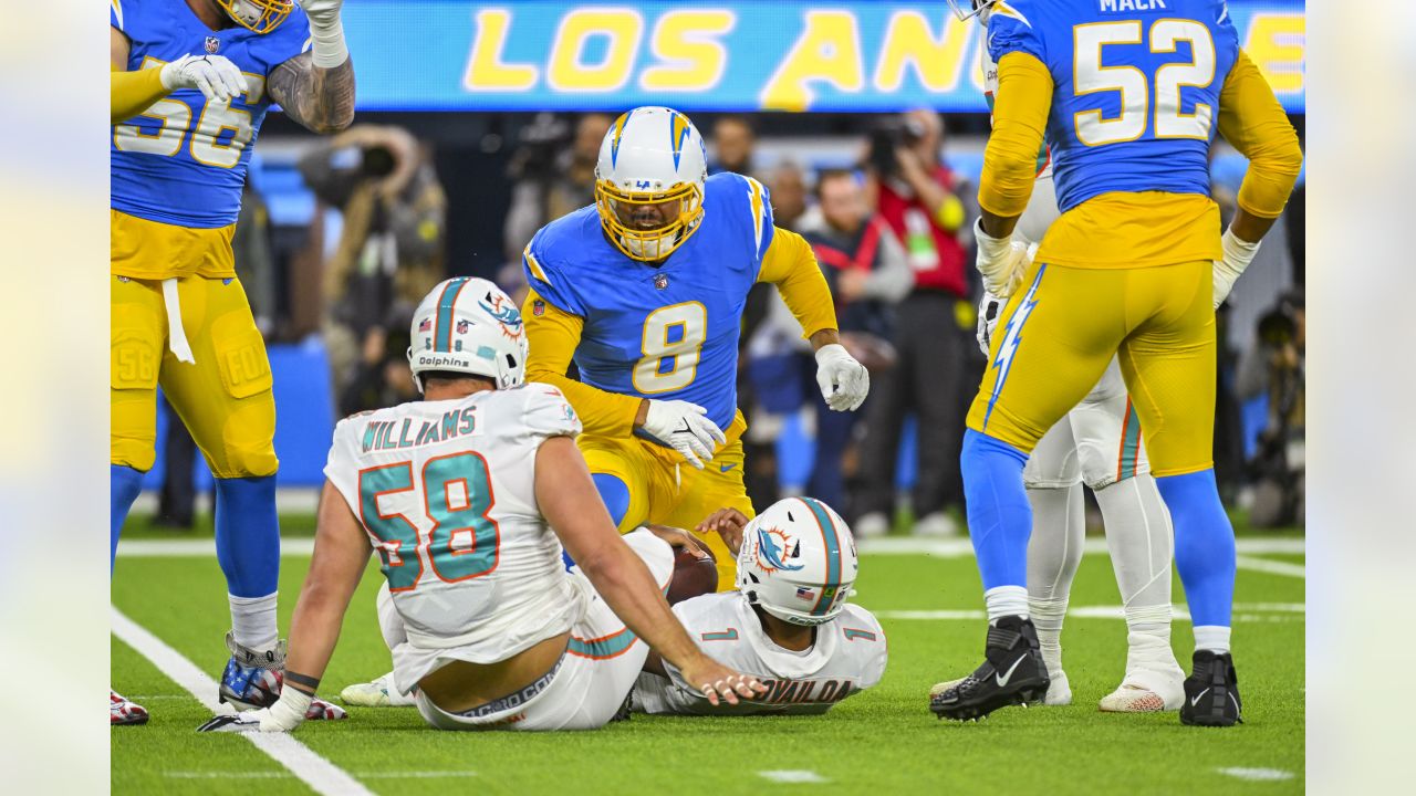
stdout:
POLYGON ((610 242, 656 262, 684 245, 704 218, 708 153, 688 116, 636 108, 610 125, 595 166, 595 208, 610 242))

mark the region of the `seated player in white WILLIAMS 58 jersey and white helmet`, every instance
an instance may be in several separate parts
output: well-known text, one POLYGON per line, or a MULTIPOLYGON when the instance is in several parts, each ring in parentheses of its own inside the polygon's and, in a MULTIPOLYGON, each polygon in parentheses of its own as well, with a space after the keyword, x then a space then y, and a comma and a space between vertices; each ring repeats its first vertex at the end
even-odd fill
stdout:
POLYGON ((664 602, 670 545, 620 537, 575 448, 561 392, 523 384, 515 305, 483 279, 423 299, 408 353, 423 392, 334 429, 286 688, 207 731, 304 718, 371 551, 399 693, 440 729, 590 729, 622 708, 653 647, 709 703, 765 688, 712 660, 664 602), (579 562, 566 571, 565 550, 579 562), (391 608, 391 609, 389 609, 391 608))

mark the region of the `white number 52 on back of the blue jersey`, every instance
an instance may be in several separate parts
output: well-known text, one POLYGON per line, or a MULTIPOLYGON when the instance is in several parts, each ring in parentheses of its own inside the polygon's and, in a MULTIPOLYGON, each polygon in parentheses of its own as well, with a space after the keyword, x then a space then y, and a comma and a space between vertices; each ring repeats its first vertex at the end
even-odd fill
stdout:
MULTIPOLYGON (((1086 146, 1103 146, 1144 136, 1151 115, 1146 72, 1136 67, 1102 65, 1106 45, 1141 42, 1141 23, 1076 25, 1072 35, 1076 96, 1103 91, 1121 93, 1121 115, 1114 119, 1102 118, 1100 110, 1073 115, 1078 140, 1086 146)), ((1189 62, 1165 64, 1155 69, 1155 137, 1209 140, 1214 108, 1197 102, 1194 113, 1181 112, 1181 88, 1208 88, 1215 81, 1215 40, 1209 28, 1194 20, 1158 20, 1151 25, 1151 52, 1175 52, 1181 41, 1189 42, 1189 62)))

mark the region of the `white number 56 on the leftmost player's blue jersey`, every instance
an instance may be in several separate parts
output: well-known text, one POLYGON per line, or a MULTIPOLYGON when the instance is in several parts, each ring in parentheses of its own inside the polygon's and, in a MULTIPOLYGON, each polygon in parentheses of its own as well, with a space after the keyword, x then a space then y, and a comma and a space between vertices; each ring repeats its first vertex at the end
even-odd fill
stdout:
MULTIPOLYGON (((144 58, 143 69, 160 68, 166 61, 144 58)), ((246 76, 246 105, 258 105, 265 95, 265 78, 251 72, 246 76)), ((229 102, 208 101, 197 116, 197 129, 191 130, 191 108, 180 99, 159 99, 139 116, 157 119, 161 126, 153 133, 144 133, 137 125, 113 127, 113 146, 123 152, 142 152, 171 157, 181 152, 188 130, 191 159, 204 166, 231 169, 241 161, 241 153, 251 143, 253 127, 251 112, 232 108, 229 102), (222 142, 222 136, 229 137, 222 142)))

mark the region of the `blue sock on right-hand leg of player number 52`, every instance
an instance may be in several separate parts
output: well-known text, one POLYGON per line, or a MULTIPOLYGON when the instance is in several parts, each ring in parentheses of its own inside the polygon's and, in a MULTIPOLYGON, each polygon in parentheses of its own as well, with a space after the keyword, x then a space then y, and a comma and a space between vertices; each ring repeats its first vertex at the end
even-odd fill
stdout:
POLYGON ((1229 627, 1235 598, 1235 531, 1219 503, 1215 470, 1155 479, 1175 524, 1175 568, 1195 627, 1229 627))

